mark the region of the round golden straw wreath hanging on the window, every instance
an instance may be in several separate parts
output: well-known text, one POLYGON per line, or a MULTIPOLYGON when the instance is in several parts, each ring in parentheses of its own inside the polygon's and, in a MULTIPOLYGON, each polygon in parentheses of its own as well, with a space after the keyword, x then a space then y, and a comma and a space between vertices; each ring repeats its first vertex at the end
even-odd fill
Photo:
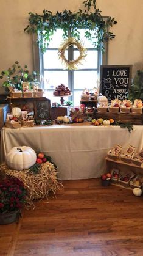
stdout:
POLYGON ((79 64, 82 64, 82 60, 86 57, 86 49, 83 47, 81 42, 78 42, 74 37, 70 37, 61 43, 60 48, 58 49, 58 57, 62 60, 65 68, 68 70, 76 70, 79 64), (70 46, 75 45, 80 52, 80 56, 78 56, 75 60, 67 60, 65 57, 65 51, 70 46))

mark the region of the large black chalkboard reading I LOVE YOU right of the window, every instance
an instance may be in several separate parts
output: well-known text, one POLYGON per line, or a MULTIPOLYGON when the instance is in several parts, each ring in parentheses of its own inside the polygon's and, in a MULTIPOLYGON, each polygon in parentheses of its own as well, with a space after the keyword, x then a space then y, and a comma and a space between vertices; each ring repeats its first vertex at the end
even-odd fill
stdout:
POLYGON ((100 66, 100 93, 108 101, 125 100, 131 84, 132 65, 101 65, 100 66))

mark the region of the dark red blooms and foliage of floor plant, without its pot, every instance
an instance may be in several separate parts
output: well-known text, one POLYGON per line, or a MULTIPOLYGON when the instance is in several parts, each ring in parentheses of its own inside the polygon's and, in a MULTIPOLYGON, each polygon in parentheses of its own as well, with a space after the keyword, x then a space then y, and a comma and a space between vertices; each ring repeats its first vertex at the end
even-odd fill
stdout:
POLYGON ((0 213, 20 210, 27 202, 27 191, 17 178, 0 181, 0 213))

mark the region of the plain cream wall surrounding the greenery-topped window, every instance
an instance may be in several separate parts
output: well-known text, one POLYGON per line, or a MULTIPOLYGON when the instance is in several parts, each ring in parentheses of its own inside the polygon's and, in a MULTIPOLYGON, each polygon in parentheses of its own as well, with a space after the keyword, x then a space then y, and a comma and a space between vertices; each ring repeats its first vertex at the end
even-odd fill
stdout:
MULTIPOLYGON (((83 9, 83 0, 1 0, 0 8, 0 71, 7 70, 18 60, 33 70, 32 38, 24 33, 29 12, 42 14, 44 9, 53 13, 83 9)), ((115 17, 118 23, 111 32, 116 38, 109 43, 108 64, 133 64, 133 76, 143 69, 143 1, 97 0, 103 16, 115 17)), ((59 42, 60 43, 60 42, 59 42)), ((0 85, 2 80, 0 80, 0 85)), ((0 93, 4 89, 0 86, 0 93)))

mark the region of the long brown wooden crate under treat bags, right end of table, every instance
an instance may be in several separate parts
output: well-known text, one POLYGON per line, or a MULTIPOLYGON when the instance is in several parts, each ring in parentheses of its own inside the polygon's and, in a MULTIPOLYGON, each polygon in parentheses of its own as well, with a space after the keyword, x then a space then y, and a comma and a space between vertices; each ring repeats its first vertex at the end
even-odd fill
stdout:
POLYGON ((103 118, 103 119, 114 119, 115 121, 120 121, 120 122, 130 122, 133 123, 133 125, 142 125, 142 114, 136 114, 136 113, 111 113, 111 112, 106 112, 106 113, 101 113, 101 112, 96 112, 95 118, 103 118))

